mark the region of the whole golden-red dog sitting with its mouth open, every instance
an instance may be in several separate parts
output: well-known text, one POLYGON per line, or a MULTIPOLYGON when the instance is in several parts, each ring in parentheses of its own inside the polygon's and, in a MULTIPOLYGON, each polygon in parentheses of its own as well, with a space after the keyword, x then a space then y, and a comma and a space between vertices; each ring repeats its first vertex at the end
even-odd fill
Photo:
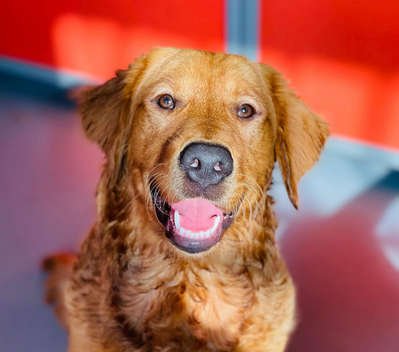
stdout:
POLYGON ((105 154, 98 220, 44 261, 71 352, 283 351, 295 288, 267 194, 297 208, 328 125, 272 67, 155 48, 79 94, 105 154))

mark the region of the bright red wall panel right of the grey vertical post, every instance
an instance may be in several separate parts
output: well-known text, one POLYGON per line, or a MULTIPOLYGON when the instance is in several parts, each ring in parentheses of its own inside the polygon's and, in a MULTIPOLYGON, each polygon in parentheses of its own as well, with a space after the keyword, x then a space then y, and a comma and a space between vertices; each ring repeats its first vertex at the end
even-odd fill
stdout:
POLYGON ((263 0, 261 61, 334 134, 399 149, 399 1, 263 0))

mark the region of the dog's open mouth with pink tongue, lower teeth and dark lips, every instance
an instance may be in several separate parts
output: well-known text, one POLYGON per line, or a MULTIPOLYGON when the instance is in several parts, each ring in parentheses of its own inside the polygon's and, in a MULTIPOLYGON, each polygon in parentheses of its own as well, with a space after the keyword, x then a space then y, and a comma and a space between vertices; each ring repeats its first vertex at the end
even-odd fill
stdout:
POLYGON ((166 237, 188 253, 209 250, 219 242, 239 208, 226 214, 203 198, 169 204, 160 197, 157 187, 152 187, 151 195, 156 216, 166 228, 166 237))

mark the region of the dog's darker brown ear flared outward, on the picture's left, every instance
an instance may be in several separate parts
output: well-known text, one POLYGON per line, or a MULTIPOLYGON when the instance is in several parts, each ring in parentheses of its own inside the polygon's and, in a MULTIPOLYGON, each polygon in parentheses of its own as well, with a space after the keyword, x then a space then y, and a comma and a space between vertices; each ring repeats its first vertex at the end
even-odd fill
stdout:
POLYGON ((145 56, 142 56, 103 85, 77 94, 83 129, 106 155, 124 143, 131 98, 144 65, 145 56))

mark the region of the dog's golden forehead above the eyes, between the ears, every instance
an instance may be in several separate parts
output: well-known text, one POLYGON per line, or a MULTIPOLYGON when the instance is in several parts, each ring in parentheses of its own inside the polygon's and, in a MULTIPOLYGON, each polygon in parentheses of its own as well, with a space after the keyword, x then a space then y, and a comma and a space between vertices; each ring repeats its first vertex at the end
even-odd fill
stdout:
POLYGON ((264 92, 261 66, 239 55, 191 49, 158 49, 148 55, 142 77, 146 87, 170 85, 180 91, 203 89, 235 92, 264 92))

